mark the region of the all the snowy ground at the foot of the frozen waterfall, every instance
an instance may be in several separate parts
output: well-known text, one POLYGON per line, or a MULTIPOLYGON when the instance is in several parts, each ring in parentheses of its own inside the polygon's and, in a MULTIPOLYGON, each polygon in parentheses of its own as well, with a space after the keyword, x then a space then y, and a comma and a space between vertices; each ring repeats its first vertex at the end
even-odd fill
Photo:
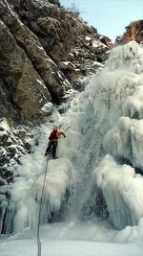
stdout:
MULTIPOLYGON (((112 230, 107 222, 67 221, 41 226, 42 256, 142 256, 142 246, 112 230), (122 238, 124 243, 119 242, 122 238)), ((1 256, 37 255, 36 236, 30 228, 3 238, 1 256)))

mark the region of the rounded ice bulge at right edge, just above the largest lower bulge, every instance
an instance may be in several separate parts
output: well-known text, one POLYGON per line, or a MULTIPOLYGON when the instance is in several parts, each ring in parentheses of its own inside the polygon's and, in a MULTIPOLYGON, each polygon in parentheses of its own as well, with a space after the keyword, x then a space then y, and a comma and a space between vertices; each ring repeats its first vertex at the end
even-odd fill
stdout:
POLYGON ((119 118, 106 133, 103 146, 108 153, 124 157, 143 170, 143 120, 119 118))

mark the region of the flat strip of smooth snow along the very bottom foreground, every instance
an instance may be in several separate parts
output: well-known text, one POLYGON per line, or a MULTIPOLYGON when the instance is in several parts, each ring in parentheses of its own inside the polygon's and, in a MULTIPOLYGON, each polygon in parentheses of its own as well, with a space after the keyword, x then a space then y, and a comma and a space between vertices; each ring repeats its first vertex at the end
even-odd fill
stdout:
MULTIPOLYGON (((142 256, 135 244, 110 244, 90 241, 42 240, 42 256, 142 256)), ((35 256, 35 240, 16 240, 1 244, 1 256, 35 256)))

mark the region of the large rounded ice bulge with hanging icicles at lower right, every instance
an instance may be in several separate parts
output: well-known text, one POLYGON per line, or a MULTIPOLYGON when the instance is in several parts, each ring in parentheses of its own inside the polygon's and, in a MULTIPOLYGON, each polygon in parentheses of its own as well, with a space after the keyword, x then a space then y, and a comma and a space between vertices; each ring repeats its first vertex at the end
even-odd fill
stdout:
POLYGON ((136 224, 143 216, 143 177, 129 165, 116 164, 106 155, 93 172, 106 199, 110 219, 117 228, 136 224))

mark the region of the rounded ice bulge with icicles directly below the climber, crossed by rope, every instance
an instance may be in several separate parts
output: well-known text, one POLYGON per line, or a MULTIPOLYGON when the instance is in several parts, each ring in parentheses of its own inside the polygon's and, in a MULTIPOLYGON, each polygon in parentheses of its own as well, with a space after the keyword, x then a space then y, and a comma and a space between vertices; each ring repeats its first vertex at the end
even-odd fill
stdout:
MULTIPOLYGON (((22 231, 24 227, 35 228, 38 220, 39 202, 41 198, 45 166, 40 174, 15 179, 12 199, 16 203, 13 230, 22 231)), ((61 202, 70 188, 73 177, 72 164, 66 158, 50 160, 46 189, 42 207, 41 222, 46 223, 52 213, 59 211, 61 202)))

